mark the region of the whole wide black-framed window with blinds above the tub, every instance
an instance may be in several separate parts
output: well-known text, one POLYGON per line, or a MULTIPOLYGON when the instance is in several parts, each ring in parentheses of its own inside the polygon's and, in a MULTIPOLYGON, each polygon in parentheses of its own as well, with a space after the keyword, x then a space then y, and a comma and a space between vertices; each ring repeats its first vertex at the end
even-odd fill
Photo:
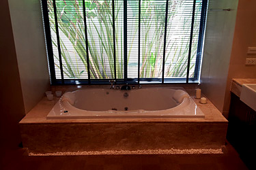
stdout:
POLYGON ((197 82, 207 0, 42 0, 52 84, 197 82))

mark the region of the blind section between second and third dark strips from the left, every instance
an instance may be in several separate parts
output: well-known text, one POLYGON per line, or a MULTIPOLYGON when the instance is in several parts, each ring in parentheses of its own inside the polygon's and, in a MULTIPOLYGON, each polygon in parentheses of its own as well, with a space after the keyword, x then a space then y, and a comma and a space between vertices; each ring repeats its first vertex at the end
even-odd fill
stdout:
POLYGON ((91 78, 114 78, 112 1, 86 4, 91 78))

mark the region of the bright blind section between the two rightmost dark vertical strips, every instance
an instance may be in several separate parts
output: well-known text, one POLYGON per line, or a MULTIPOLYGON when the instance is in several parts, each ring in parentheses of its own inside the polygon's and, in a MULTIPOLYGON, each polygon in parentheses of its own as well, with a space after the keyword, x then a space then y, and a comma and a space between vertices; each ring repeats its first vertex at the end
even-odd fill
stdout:
MULTIPOLYGON (((186 78, 190 30, 193 17, 193 0, 170 0, 168 10, 165 78, 186 78)), ((196 11, 195 14, 200 15, 201 13, 200 11, 196 11)), ((193 45, 195 46, 192 48, 191 53, 195 54, 197 44, 193 45)), ((194 58, 194 55, 191 58, 194 58)))

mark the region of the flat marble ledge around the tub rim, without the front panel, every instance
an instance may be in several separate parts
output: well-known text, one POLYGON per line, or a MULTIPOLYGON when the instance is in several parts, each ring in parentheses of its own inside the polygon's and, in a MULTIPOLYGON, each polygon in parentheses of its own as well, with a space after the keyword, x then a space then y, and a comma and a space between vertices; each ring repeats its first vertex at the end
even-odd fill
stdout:
MULTIPOLYGON (((201 97, 205 97, 208 101, 207 104, 201 104, 200 103, 200 99, 195 99, 195 88, 191 89, 191 88, 185 88, 186 92, 188 92, 188 94, 190 95, 190 97, 192 97, 192 99, 195 101, 195 103, 197 104, 197 106, 201 109, 201 111, 203 112, 203 114, 205 114, 205 118, 204 119, 197 119, 197 118, 193 118, 193 119, 182 119, 182 118, 172 118, 172 119, 151 119, 150 121, 147 119, 125 119, 122 120, 122 122, 197 122, 197 123, 201 123, 201 122, 214 122, 214 123, 227 123, 227 120, 224 118, 224 116, 221 114, 221 112, 218 111, 218 109, 216 109, 216 107, 212 104, 212 102, 210 100, 207 99, 207 97, 205 97, 205 95, 201 95, 201 97)), ((57 103, 57 101, 59 101, 59 97, 54 97, 53 101, 48 101, 46 99, 46 97, 44 97, 39 103, 38 105, 36 105, 31 112, 29 112, 24 118, 23 120, 20 120, 20 124, 51 124, 51 123, 87 123, 87 122, 106 122, 106 120, 104 119, 80 119, 80 120, 46 120, 46 116, 47 114, 51 111, 51 109, 53 108, 53 106, 55 105, 55 103, 57 103)), ((107 122, 119 122, 119 119, 108 119, 107 122)))

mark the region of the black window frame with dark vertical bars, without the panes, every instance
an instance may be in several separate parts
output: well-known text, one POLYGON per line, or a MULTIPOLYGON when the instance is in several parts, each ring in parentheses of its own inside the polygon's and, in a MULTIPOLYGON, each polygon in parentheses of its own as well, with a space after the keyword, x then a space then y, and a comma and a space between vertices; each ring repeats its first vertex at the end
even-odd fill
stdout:
MULTIPOLYGON (((190 44, 189 44, 189 51, 188 51, 188 65, 187 65, 187 73, 186 78, 165 78, 165 52, 163 52, 163 60, 162 60, 162 78, 140 78, 139 77, 139 65, 138 63, 138 78, 127 78, 127 0, 124 0, 124 79, 117 79, 116 78, 116 69, 115 69, 115 78, 113 79, 91 79, 90 73, 89 73, 89 67, 87 67, 88 72, 88 79, 65 79, 63 78, 63 69, 62 69, 62 63, 61 63, 61 50, 59 46, 59 33, 58 33, 58 24, 57 24, 57 12, 56 12, 56 5, 55 0, 53 0, 53 7, 55 10, 55 24, 56 24, 56 30, 57 30, 57 44, 58 44, 58 50, 59 50, 59 64, 60 64, 60 70, 61 70, 61 79, 57 79, 55 75, 55 63, 54 63, 54 56, 53 56, 53 44, 51 39, 51 27, 49 23, 48 18, 48 5, 47 0, 41 0, 42 2, 42 15, 43 15, 43 22, 44 22, 44 35, 45 35, 45 41, 46 41, 46 51, 48 55, 48 68, 50 72, 50 78, 51 78, 51 85, 72 85, 72 84, 109 84, 109 80, 115 80, 115 84, 173 84, 173 83, 198 83, 199 82, 199 71, 201 66, 201 59, 202 59, 202 52, 203 52, 203 38, 204 38, 204 32, 205 32, 205 21, 207 16, 207 7, 208 7, 208 0, 202 0, 202 6, 201 6, 201 18, 200 18, 200 27, 199 27, 199 40, 197 44, 197 56, 196 56, 196 62, 195 62, 195 73, 193 78, 189 78, 189 67, 190 67, 190 54, 191 54, 191 47, 192 47, 192 41, 193 41, 193 27, 194 27, 194 19, 195 19, 195 4, 197 0, 193 1, 193 16, 191 20, 191 29, 190 29, 190 44)), ((113 7, 113 13, 115 11, 114 9, 114 2, 115 0, 112 0, 112 7, 113 7)), ((139 0, 139 30, 140 30, 140 12, 141 12, 141 0, 139 0)), ((164 51, 166 46, 166 36, 167 36, 167 16, 168 16, 168 2, 166 3, 166 14, 165 14, 165 40, 164 40, 164 51)), ((83 15, 84 15, 84 23, 85 23, 85 39, 86 39, 86 48, 87 48, 87 65, 89 65, 89 52, 88 52, 88 41, 87 41, 87 29, 86 29, 86 17, 85 17, 85 0, 83 0, 83 15)), ((115 37, 115 15, 113 15, 113 37, 115 37)), ((139 37, 140 37, 140 31, 139 31, 139 37)), ((114 38, 114 49, 115 49, 115 38, 114 38)), ((140 38, 139 38, 139 45, 140 45, 140 38)), ((139 50, 140 51, 140 50, 139 50)), ((114 62, 115 62, 115 50, 114 50, 114 62)), ((140 61, 140 54, 138 56, 138 61, 140 61)), ((114 67, 116 67, 114 65, 114 67)))

